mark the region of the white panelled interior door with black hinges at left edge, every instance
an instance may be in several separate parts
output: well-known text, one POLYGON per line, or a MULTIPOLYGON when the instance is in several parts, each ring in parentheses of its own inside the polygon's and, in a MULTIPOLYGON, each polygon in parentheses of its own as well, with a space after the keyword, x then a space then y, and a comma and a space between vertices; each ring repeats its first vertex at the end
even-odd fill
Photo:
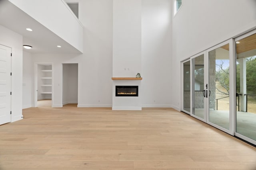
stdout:
POLYGON ((0 125, 11 122, 11 48, 0 45, 0 125))

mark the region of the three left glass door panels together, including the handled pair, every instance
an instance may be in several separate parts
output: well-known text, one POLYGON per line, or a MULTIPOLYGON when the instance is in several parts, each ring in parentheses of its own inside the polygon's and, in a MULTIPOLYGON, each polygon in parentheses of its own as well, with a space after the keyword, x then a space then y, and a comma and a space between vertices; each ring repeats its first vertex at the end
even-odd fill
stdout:
POLYGON ((232 42, 225 41, 183 63, 182 101, 182 111, 230 134, 234 134, 234 124, 230 123, 234 118, 230 112, 230 103, 234 103, 230 98, 234 96, 234 75, 230 75, 230 70, 234 70, 234 66, 230 68, 234 62, 232 42))

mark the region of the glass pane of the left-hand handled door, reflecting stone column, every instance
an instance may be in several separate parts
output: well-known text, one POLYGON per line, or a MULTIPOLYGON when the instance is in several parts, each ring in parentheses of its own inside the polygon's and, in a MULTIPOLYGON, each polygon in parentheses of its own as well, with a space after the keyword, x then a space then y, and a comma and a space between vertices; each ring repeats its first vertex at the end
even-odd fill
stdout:
POLYGON ((192 115, 204 120, 204 54, 192 59, 192 115))

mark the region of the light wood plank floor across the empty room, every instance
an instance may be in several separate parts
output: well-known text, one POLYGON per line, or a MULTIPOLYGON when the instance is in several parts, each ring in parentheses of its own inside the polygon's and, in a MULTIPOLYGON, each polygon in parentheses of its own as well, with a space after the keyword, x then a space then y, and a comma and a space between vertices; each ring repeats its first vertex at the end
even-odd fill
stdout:
POLYGON ((256 169, 256 149, 174 109, 38 107, 0 126, 0 170, 256 169))

